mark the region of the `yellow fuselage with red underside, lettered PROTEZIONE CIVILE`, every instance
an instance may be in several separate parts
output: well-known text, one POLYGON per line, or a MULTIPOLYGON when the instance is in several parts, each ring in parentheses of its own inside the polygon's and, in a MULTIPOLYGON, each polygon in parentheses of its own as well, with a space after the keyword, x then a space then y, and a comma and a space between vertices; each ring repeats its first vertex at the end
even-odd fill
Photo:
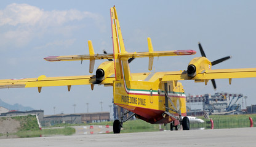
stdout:
MULTIPOLYGON (((166 92, 175 107, 181 111, 182 116, 186 116, 186 96, 182 83, 178 82, 175 86, 174 81, 161 81, 160 79, 152 81, 153 79, 147 79, 150 76, 146 73, 136 75, 136 80, 134 78, 132 81, 123 79, 114 81, 114 104, 132 111, 138 118, 148 123, 170 123, 175 118, 165 116, 163 113, 168 111, 166 107, 175 108, 166 99, 166 92)), ((174 111, 169 112, 178 116, 178 113, 174 111)))

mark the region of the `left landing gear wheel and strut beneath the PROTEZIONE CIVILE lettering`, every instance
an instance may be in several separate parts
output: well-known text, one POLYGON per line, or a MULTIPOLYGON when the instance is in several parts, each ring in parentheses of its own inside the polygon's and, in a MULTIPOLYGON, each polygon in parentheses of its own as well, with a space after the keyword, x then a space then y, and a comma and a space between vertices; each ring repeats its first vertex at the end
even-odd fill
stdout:
POLYGON ((132 116, 135 115, 135 113, 132 113, 132 115, 128 116, 126 119, 124 119, 124 116, 130 113, 130 111, 126 110, 124 113, 121 113, 120 120, 116 119, 113 123, 113 132, 114 134, 119 134, 121 131, 122 123, 128 121, 128 119, 132 118, 132 116))

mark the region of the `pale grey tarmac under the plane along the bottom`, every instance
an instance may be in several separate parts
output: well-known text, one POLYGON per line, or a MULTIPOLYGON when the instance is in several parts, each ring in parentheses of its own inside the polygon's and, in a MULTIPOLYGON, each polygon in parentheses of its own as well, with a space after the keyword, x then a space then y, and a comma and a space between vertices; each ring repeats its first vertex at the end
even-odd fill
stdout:
POLYGON ((0 140, 1 146, 255 146, 256 127, 0 140))

